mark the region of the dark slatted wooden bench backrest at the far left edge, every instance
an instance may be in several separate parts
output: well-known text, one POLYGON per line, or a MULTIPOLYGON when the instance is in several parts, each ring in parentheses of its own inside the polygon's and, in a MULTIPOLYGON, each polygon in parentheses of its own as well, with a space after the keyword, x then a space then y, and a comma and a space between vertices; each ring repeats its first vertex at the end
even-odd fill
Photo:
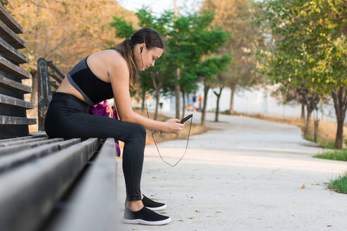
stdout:
POLYGON ((0 5, 0 139, 28 136, 28 125, 36 124, 27 118, 26 110, 35 105, 24 100, 32 88, 22 85, 30 73, 19 66, 28 58, 18 51, 26 44, 17 34, 23 34, 23 27, 0 5))

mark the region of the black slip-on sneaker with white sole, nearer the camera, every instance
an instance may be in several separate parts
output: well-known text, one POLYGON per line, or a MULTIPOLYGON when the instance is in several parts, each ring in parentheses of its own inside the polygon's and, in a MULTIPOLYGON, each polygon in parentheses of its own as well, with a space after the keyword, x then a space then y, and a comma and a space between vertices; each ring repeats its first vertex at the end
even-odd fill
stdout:
POLYGON ((125 208, 123 222, 126 224, 142 224, 142 225, 165 225, 169 223, 171 218, 160 215, 149 208, 143 206, 139 211, 130 211, 125 208))

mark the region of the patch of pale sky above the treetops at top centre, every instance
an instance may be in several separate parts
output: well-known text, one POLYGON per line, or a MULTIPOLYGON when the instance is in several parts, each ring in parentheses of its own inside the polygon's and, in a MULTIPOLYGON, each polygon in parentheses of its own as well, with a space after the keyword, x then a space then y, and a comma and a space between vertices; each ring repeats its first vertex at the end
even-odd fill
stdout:
MULTIPOLYGON (((137 11, 142 6, 147 6, 154 13, 163 13, 164 11, 174 11, 174 0, 117 0, 118 3, 129 11, 137 11)), ((177 0, 178 12, 180 14, 192 13, 197 11, 203 0, 177 0)))

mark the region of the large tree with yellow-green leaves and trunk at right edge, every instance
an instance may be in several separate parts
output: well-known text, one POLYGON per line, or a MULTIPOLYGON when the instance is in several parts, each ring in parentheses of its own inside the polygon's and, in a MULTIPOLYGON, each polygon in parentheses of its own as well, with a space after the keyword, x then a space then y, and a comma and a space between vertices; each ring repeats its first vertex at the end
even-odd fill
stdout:
POLYGON ((334 99, 335 148, 343 143, 347 108, 346 4, 338 1, 265 1, 272 50, 269 73, 276 82, 308 89, 308 95, 334 99))

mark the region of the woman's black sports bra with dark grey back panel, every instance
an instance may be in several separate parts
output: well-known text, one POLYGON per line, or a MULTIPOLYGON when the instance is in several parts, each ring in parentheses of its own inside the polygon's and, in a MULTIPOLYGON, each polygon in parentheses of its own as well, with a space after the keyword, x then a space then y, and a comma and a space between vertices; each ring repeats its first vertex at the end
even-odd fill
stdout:
MULTIPOLYGON (((118 49, 115 49, 119 52, 118 49)), ((87 65, 87 58, 83 58, 77 65, 75 65, 67 74, 68 81, 75 87, 75 89, 83 95, 83 98, 89 106, 98 104, 105 99, 114 97, 111 83, 100 80, 90 70, 87 65)))

